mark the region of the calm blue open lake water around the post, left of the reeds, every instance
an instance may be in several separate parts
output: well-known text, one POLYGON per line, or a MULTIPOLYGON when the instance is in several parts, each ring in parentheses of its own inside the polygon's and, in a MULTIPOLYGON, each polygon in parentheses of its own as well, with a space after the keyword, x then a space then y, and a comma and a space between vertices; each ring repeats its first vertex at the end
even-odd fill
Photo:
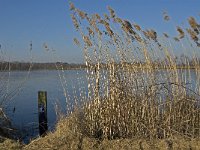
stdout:
POLYGON ((49 129, 53 129, 57 120, 55 103, 60 103, 63 112, 66 110, 66 98, 61 82, 67 85, 67 92, 71 97, 75 93, 79 95, 76 90, 79 84, 86 85, 85 72, 83 70, 67 70, 61 72, 60 76, 58 71, 45 70, 31 71, 29 75, 25 71, 16 71, 10 74, 7 72, 0 72, 0 77, 1 83, 6 83, 5 85, 7 85, 6 89, 8 93, 22 87, 13 99, 6 103, 6 112, 17 128, 26 131, 24 133, 27 133, 27 137, 38 135, 37 99, 39 90, 47 91, 48 126, 49 129), (13 111, 14 109, 15 111, 13 111))

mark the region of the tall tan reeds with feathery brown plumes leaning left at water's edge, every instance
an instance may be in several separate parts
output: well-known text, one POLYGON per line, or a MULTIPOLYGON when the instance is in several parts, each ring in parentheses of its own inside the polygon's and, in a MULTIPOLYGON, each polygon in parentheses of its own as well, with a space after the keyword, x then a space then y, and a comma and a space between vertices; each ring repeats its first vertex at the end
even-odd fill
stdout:
MULTIPOLYGON (((88 15, 72 3, 70 9, 81 37, 74 42, 83 50, 88 83, 78 108, 80 124, 74 129, 108 139, 200 136, 200 68, 195 52, 200 25, 195 18, 188 19, 188 29, 178 26, 177 37, 170 38, 119 18, 110 7, 104 16, 88 15), (178 48, 183 53, 189 50, 193 61, 177 60, 178 48)), ((166 12, 163 15, 170 21, 166 12)))

